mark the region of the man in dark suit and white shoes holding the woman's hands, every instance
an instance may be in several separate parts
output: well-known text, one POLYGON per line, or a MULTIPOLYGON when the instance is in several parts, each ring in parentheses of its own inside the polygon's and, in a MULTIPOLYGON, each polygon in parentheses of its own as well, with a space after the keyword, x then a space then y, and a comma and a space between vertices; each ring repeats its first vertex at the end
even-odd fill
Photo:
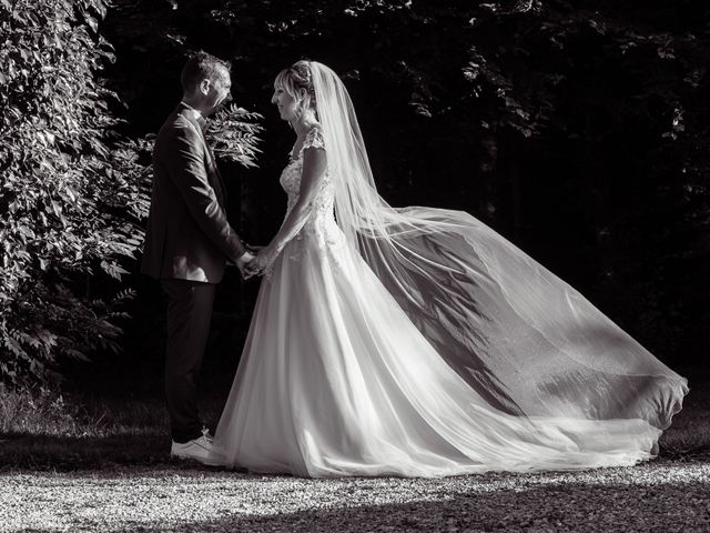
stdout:
POLYGON ((227 261, 253 255, 227 222, 226 189, 204 138, 206 117, 232 99, 230 64, 204 52, 181 73, 183 99, 153 150, 153 191, 141 272, 168 295, 165 399, 171 455, 210 463, 212 439, 197 414, 200 375, 215 284, 227 261))

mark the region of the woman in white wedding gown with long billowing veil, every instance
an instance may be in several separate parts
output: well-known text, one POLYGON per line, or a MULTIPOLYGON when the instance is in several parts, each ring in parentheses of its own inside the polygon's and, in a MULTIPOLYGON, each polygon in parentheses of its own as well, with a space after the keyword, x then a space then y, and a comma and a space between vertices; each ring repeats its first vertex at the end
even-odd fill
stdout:
POLYGON ((389 207, 348 93, 298 61, 272 102, 296 133, 288 204, 215 461, 298 476, 631 465, 687 381, 471 215, 389 207))

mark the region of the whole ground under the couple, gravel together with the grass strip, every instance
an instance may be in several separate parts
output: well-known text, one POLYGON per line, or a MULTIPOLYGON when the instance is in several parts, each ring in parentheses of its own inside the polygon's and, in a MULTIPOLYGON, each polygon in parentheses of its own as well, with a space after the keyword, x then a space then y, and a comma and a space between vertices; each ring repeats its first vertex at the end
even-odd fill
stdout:
POLYGON ((160 399, 0 388, 0 532, 710 532, 710 380, 698 374, 653 461, 440 480, 211 469, 168 456, 160 399))

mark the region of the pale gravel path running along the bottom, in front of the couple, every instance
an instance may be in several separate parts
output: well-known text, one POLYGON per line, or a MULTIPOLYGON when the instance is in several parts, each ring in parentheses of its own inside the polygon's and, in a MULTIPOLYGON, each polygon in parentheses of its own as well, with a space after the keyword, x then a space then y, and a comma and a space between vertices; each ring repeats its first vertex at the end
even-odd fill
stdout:
POLYGON ((200 467, 0 475, 0 531, 710 532, 710 463, 440 480, 200 467))

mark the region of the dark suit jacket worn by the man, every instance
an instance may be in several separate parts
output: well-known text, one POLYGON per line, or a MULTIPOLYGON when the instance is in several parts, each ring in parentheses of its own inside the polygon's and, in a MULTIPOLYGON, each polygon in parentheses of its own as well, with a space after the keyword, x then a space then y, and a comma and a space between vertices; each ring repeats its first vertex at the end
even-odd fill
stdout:
POLYGON ((244 247, 226 219, 226 190, 194 110, 184 103, 153 149, 153 191, 141 272, 217 283, 244 247))

